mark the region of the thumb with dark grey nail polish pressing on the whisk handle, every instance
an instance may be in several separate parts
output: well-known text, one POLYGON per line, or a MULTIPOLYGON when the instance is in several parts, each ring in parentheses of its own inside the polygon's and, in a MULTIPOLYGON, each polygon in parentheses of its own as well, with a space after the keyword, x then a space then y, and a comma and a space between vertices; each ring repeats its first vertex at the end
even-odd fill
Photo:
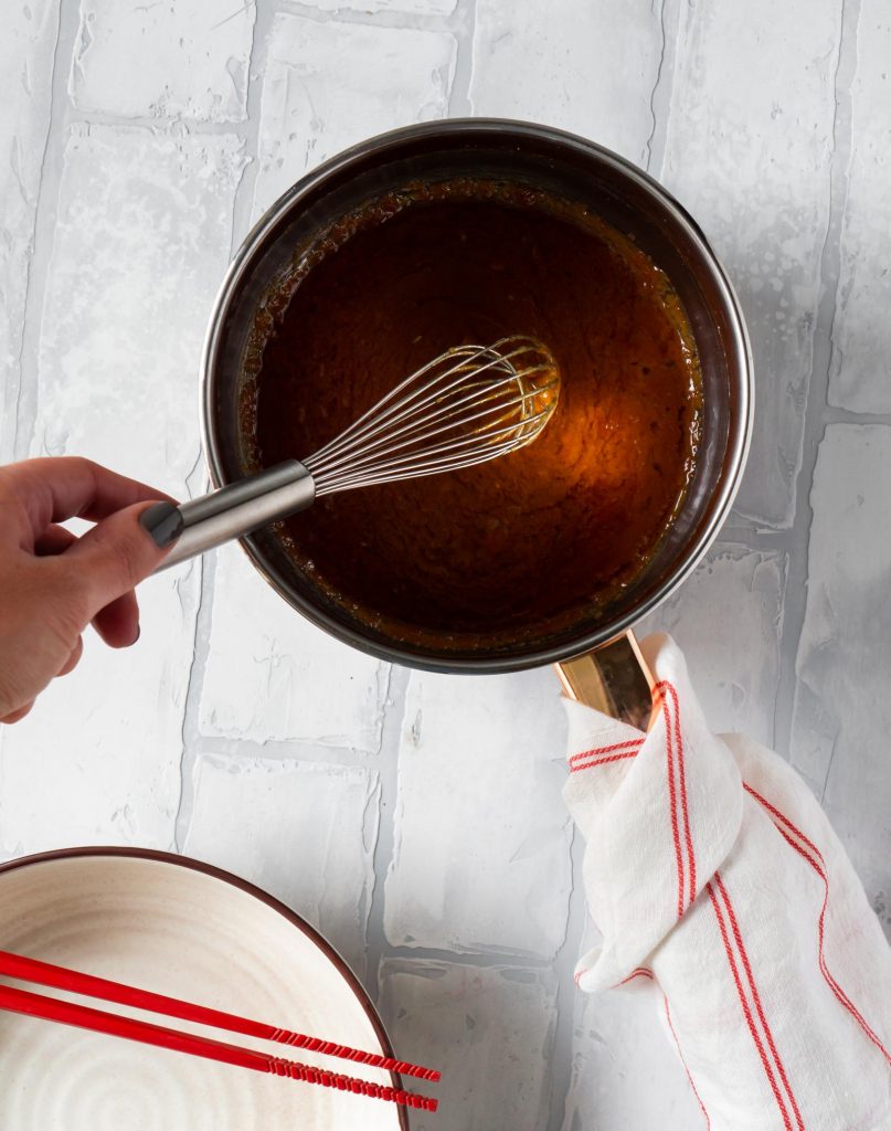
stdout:
POLYGON ((104 518, 66 550, 63 556, 87 592, 90 619, 157 569, 181 532, 182 517, 173 503, 136 503, 104 518))

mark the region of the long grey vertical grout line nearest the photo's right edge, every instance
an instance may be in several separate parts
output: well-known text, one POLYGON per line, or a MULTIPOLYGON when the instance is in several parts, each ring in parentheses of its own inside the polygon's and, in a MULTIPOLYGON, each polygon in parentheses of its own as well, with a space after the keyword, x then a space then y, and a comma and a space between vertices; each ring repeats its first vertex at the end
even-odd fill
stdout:
POLYGON ((859 12, 860 0, 842 0, 834 77, 836 109, 832 120, 829 221, 820 257, 821 286, 813 336, 813 368, 806 390, 802 458, 795 483, 795 523, 780 637, 780 679, 777 689, 775 745, 779 753, 788 757, 791 757, 798 647, 807 610, 808 553, 814 518, 811 491, 820 444, 825 434, 825 423, 837 413, 837 411, 828 411, 827 399, 832 364, 833 323, 838 307, 842 223, 848 192, 851 149, 850 89, 857 68, 859 12))

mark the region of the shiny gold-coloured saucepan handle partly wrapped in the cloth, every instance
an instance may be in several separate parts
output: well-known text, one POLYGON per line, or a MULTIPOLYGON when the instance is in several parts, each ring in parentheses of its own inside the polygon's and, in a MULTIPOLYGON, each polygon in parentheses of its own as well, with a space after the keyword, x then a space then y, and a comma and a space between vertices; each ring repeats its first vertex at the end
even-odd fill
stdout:
POLYGON ((562 659, 554 668, 569 699, 648 729, 656 681, 631 630, 583 656, 562 659))

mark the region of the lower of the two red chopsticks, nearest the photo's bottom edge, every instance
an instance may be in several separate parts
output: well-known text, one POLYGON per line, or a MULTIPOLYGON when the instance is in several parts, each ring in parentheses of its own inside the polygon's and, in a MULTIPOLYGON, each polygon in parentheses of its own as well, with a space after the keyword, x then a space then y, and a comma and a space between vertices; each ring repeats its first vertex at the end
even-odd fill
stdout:
POLYGON ((256 1052, 253 1048, 240 1048, 237 1045, 211 1041, 209 1037, 178 1033, 162 1025, 137 1021, 133 1018, 119 1017, 116 1013, 105 1013, 100 1009, 60 1001, 58 998, 45 998, 43 994, 17 990, 14 986, 0 985, 0 1009, 40 1017, 46 1021, 61 1021, 63 1025, 92 1029, 94 1033, 107 1033, 114 1037, 139 1041, 146 1045, 157 1045, 192 1056, 204 1056, 206 1060, 220 1061, 224 1064, 251 1068, 258 1072, 271 1072, 274 1076, 285 1076, 305 1083, 319 1083, 325 1088, 337 1088, 338 1091, 352 1091, 373 1099, 388 1099, 406 1107, 417 1107, 427 1112, 435 1112, 438 1107, 438 1100, 430 1096, 419 1096, 414 1091, 341 1076, 339 1072, 327 1072, 311 1064, 283 1060, 280 1056, 256 1052))

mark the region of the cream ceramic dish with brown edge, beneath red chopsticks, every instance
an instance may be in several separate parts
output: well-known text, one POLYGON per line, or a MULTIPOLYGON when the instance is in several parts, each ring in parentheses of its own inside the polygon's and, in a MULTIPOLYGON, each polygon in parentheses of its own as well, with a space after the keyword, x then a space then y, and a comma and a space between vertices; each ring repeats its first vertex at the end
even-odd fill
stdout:
MULTIPOLYGON (((183 857, 76 848, 0 865, 0 948, 391 1054, 364 990, 315 931, 258 888, 183 857)), ((150 1019, 395 1082, 390 1073, 361 1064, 150 1019)), ((5 1131, 405 1131, 407 1125, 405 1111, 383 1100, 0 1012, 5 1131)))

